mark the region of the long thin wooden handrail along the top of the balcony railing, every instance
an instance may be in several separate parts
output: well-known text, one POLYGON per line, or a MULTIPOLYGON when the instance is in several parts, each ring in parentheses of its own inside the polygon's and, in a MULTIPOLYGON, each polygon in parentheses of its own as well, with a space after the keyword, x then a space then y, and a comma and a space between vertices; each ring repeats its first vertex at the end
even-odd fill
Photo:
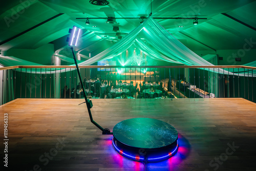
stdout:
MULTIPOLYGON (((2 67, 0 70, 10 70, 17 68, 76 68, 76 66, 13 66, 2 67)), ((256 70, 256 67, 247 66, 79 66, 79 68, 243 68, 256 70)))

